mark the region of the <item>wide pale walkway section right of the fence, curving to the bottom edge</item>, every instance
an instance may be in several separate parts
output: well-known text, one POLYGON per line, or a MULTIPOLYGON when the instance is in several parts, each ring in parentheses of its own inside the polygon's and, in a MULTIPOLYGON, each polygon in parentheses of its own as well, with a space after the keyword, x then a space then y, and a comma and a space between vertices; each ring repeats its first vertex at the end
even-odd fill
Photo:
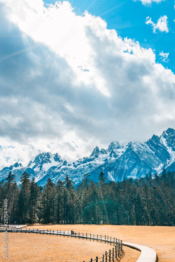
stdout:
POLYGON ((136 262, 156 262, 157 254, 154 249, 129 242, 122 242, 122 244, 141 251, 141 254, 136 262))

